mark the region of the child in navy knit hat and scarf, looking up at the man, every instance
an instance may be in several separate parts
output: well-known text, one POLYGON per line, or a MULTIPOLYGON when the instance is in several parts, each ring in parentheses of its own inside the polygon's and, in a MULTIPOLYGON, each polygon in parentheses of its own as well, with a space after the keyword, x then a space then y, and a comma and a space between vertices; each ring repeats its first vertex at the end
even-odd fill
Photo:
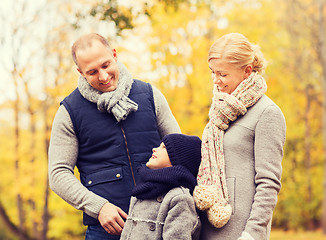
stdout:
POLYGON ((201 223, 192 192, 201 161, 201 140, 169 134, 140 168, 121 240, 199 239, 201 223))

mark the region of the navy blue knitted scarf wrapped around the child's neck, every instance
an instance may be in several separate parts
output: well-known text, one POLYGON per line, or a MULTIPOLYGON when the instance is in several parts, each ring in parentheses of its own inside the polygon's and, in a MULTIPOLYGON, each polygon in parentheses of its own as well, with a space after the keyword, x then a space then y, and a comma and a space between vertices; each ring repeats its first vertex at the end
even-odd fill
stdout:
POLYGON ((196 178, 190 171, 180 165, 149 169, 146 166, 139 169, 140 182, 133 188, 131 195, 138 199, 154 199, 175 187, 186 187, 192 193, 196 186, 196 178))

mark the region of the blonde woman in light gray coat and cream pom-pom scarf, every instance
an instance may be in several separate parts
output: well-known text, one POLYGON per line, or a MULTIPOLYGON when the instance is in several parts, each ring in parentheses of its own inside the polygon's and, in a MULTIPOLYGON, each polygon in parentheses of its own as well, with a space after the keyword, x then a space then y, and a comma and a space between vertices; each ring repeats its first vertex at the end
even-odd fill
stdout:
POLYGON ((281 188, 285 119, 265 95, 265 60, 239 33, 210 48, 214 96, 194 191, 202 239, 269 239, 281 188))

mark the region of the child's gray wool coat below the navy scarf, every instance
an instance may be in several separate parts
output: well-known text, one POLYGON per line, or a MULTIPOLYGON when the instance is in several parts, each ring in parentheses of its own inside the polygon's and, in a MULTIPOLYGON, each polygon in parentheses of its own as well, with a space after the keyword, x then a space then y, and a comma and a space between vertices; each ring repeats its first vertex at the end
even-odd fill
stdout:
POLYGON ((177 187, 152 200, 132 197, 120 240, 198 240, 200 228, 189 189, 177 187))

